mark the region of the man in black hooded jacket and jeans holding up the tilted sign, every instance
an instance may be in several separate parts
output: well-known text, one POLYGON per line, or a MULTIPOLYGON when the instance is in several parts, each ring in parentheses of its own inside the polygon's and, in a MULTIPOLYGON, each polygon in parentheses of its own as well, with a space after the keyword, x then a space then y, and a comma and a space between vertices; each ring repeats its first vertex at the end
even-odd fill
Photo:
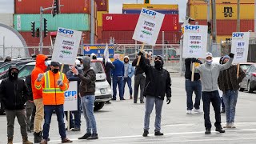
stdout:
MULTIPOLYGON (((161 130, 161 115, 162 115, 162 104, 166 94, 166 102, 170 103, 171 97, 171 80, 170 74, 167 70, 163 69, 163 58, 157 56, 154 59, 154 66, 147 65, 145 62, 145 57, 140 52, 141 61, 139 67, 145 71, 146 74, 146 87, 144 94, 146 97, 146 111, 144 118, 144 133, 143 137, 146 137, 149 134, 150 130, 150 114, 152 113, 154 103, 155 103, 155 122, 154 122, 154 135, 161 136, 163 135, 161 130)), ((141 96, 142 97, 142 96, 141 96)))

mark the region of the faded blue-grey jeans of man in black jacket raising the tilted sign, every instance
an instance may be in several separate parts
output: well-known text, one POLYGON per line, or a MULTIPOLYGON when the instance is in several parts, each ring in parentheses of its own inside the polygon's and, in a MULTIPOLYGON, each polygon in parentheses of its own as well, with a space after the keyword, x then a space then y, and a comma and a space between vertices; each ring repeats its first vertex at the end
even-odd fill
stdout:
POLYGON ((154 131, 161 130, 161 114, 162 114, 163 100, 159 98, 151 97, 151 96, 146 96, 144 130, 150 130, 150 114, 152 113, 154 103, 155 103, 154 131))

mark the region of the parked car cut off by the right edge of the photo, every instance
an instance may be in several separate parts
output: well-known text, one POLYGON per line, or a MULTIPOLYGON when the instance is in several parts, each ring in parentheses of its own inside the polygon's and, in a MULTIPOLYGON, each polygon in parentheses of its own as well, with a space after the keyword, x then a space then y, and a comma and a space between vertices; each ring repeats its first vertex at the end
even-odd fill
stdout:
POLYGON ((246 70, 246 77, 243 78, 240 83, 240 91, 247 90, 249 93, 252 93, 256 90, 256 64, 252 64, 246 70))

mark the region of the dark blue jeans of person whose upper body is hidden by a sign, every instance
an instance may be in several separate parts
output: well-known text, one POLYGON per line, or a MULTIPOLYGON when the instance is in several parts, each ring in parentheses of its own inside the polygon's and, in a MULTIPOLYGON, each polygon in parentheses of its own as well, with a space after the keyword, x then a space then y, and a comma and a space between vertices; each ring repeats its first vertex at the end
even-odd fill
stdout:
POLYGON ((194 81, 191 82, 191 80, 186 79, 185 82, 186 85, 186 110, 192 110, 193 109, 193 92, 195 94, 195 102, 194 102, 194 108, 200 109, 200 101, 201 101, 201 94, 202 94, 202 84, 201 81, 194 81))

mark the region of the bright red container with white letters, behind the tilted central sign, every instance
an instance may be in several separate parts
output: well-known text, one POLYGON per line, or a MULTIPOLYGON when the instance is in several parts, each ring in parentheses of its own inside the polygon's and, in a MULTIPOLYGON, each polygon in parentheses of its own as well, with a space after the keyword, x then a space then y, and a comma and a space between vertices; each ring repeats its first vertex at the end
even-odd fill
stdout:
MULTIPOLYGON (((104 31, 134 31, 139 14, 103 14, 104 31)), ((178 31, 178 14, 166 14, 161 30, 178 31)))

